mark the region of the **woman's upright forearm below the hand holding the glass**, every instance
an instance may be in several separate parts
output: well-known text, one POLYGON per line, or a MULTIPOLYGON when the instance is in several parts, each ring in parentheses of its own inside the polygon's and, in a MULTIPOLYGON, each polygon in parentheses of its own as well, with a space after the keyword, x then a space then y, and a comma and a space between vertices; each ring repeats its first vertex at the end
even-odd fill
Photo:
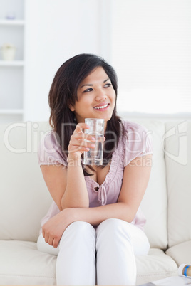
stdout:
POLYGON ((81 166, 81 158, 76 160, 68 157, 66 190, 61 199, 62 209, 88 208, 89 198, 86 181, 81 166))

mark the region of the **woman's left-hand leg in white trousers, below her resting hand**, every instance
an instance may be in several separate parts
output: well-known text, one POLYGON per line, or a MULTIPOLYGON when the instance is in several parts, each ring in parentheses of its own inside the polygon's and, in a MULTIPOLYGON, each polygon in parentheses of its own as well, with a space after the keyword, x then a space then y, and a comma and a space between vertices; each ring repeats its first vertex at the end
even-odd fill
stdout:
POLYGON ((57 285, 96 284, 96 231, 76 221, 64 231, 56 262, 57 285))

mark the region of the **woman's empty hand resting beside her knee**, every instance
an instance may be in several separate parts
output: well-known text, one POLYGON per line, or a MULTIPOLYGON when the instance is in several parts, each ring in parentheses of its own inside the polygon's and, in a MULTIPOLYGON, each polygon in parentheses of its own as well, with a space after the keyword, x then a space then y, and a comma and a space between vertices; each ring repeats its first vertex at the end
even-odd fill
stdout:
POLYGON ((71 212, 72 209, 66 208, 43 225, 42 234, 46 243, 52 245, 54 248, 58 247, 63 232, 73 223, 71 212))

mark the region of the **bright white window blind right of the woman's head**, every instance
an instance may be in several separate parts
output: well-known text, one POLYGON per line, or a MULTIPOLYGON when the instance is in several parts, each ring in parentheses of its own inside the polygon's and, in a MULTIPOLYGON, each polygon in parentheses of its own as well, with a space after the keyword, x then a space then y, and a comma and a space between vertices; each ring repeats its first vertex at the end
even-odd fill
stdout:
POLYGON ((191 1, 111 1, 118 109, 191 112, 191 1))

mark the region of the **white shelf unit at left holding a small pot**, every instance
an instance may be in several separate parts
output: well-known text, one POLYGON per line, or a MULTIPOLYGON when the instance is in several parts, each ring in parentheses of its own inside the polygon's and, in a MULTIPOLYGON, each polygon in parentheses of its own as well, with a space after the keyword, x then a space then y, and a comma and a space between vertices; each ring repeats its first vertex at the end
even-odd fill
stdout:
POLYGON ((4 60, 0 51, 0 123, 24 117, 24 1, 0 0, 0 47, 16 47, 14 60, 4 60))

